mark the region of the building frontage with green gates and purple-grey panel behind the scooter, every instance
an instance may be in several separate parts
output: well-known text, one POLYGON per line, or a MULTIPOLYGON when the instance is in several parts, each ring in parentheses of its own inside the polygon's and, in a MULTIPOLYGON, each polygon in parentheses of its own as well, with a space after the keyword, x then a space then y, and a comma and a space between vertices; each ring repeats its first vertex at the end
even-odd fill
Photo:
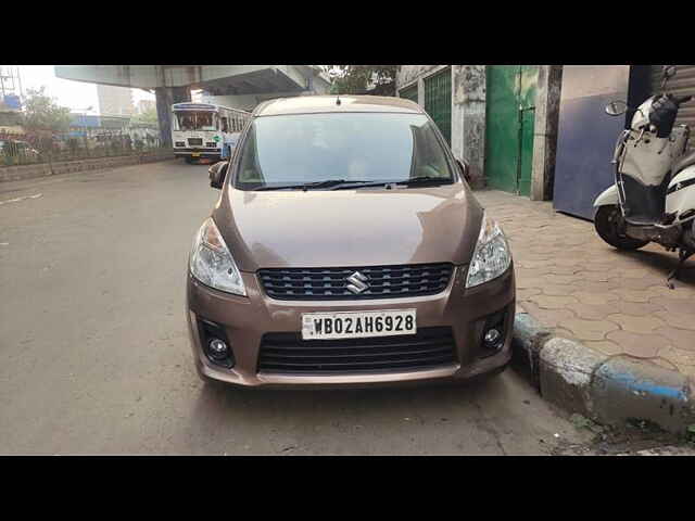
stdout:
MULTIPOLYGON (((592 202, 612 182, 611 156, 622 118, 608 101, 640 105, 660 91, 661 65, 402 65, 397 96, 419 103, 454 154, 469 162, 472 185, 593 218, 592 202)), ((695 65, 678 65, 669 85, 695 94, 695 65)), ((695 103, 677 124, 695 125, 695 103)), ((695 141, 695 140, 693 140, 695 141)), ((691 142, 691 145, 695 144, 691 142)))

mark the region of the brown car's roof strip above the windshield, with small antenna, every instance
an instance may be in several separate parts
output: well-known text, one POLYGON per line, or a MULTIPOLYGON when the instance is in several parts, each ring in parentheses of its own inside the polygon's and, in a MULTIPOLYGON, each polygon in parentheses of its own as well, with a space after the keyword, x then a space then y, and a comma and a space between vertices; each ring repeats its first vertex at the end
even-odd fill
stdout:
POLYGON ((316 114, 326 112, 400 112, 425 114, 417 103, 403 98, 386 96, 298 96, 278 98, 261 103, 253 116, 278 116, 280 114, 316 114), (340 103, 338 102, 340 100, 340 103))

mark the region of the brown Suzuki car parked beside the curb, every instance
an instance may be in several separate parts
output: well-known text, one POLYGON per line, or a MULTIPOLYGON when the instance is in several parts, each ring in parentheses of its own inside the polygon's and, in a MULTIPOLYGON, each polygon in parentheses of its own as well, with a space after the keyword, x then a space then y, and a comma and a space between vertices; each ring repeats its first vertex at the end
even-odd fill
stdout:
POLYGON ((203 380, 458 381, 510 358, 507 241, 434 123, 397 98, 267 101, 195 236, 188 323, 203 380))

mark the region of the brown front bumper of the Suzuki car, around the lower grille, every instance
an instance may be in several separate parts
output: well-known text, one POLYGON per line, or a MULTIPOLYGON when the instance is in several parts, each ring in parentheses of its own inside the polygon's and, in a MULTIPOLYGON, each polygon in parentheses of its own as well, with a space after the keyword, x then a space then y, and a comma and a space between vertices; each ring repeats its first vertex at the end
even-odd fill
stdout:
POLYGON ((187 321, 195 367, 203 377, 244 386, 370 386, 383 384, 462 381, 494 371, 510 357, 515 313, 514 266, 501 277, 466 289, 466 268, 457 267, 446 290, 437 295, 359 301, 280 301, 268 297, 255 274, 242 272, 248 296, 213 290, 190 272, 187 284, 187 321), (257 371, 261 338, 270 332, 301 331, 301 316, 313 312, 417 309, 417 327, 451 327, 456 363, 431 369, 369 373, 296 374, 257 371), (503 347, 484 356, 481 345, 485 318, 507 310, 503 347), (201 346, 198 319, 219 325, 227 335, 236 364, 227 369, 210 361, 201 346))

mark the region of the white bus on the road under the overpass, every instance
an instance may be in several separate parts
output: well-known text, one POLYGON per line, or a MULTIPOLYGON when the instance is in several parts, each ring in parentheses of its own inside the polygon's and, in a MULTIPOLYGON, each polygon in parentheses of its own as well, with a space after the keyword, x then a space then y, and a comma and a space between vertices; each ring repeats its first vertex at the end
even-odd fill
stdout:
POLYGON ((249 112, 207 103, 175 103, 172 112, 174 153, 187 163, 228 156, 251 118, 249 112))

